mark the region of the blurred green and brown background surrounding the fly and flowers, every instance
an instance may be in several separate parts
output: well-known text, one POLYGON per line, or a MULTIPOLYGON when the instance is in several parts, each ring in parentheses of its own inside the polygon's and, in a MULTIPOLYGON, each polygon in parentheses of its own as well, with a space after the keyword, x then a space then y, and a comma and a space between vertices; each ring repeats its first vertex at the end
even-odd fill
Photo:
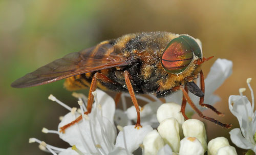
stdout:
MULTIPOLYGON (((204 55, 215 56, 205 63, 205 75, 217 58, 232 60, 233 74, 216 92, 222 101, 215 106, 226 116, 220 118, 208 110, 204 114, 237 127, 238 121, 228 109, 228 97, 238 95, 238 89, 247 86, 248 77, 256 90, 255 15, 256 1, 238 0, 0 1, 0 154, 47 154, 37 144, 28 143, 31 137, 68 147, 56 135, 40 130, 56 130, 58 117, 67 113, 48 100, 50 94, 70 106, 77 105, 71 92, 63 89, 63 81, 23 89, 10 87, 11 82, 70 52, 141 31, 200 38, 204 55)), ((248 91, 246 95, 250 98, 248 91)), ((229 130, 204 122, 209 140, 229 137, 229 130)))

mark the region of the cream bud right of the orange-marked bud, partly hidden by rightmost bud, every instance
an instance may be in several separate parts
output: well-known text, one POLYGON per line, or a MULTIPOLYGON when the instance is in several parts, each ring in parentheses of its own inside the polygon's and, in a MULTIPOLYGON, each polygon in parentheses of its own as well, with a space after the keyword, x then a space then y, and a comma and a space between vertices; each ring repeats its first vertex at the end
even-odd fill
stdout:
POLYGON ((217 137, 210 140, 208 143, 208 155, 217 155, 218 150, 225 146, 230 146, 225 137, 217 137))

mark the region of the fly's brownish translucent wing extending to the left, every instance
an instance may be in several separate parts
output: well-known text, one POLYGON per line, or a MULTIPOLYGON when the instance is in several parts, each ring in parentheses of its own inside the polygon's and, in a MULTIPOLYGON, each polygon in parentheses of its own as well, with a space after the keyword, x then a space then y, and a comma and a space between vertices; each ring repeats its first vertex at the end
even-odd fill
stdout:
POLYGON ((128 65, 132 59, 109 43, 70 53, 14 81, 12 87, 30 87, 51 83, 78 74, 128 65))

